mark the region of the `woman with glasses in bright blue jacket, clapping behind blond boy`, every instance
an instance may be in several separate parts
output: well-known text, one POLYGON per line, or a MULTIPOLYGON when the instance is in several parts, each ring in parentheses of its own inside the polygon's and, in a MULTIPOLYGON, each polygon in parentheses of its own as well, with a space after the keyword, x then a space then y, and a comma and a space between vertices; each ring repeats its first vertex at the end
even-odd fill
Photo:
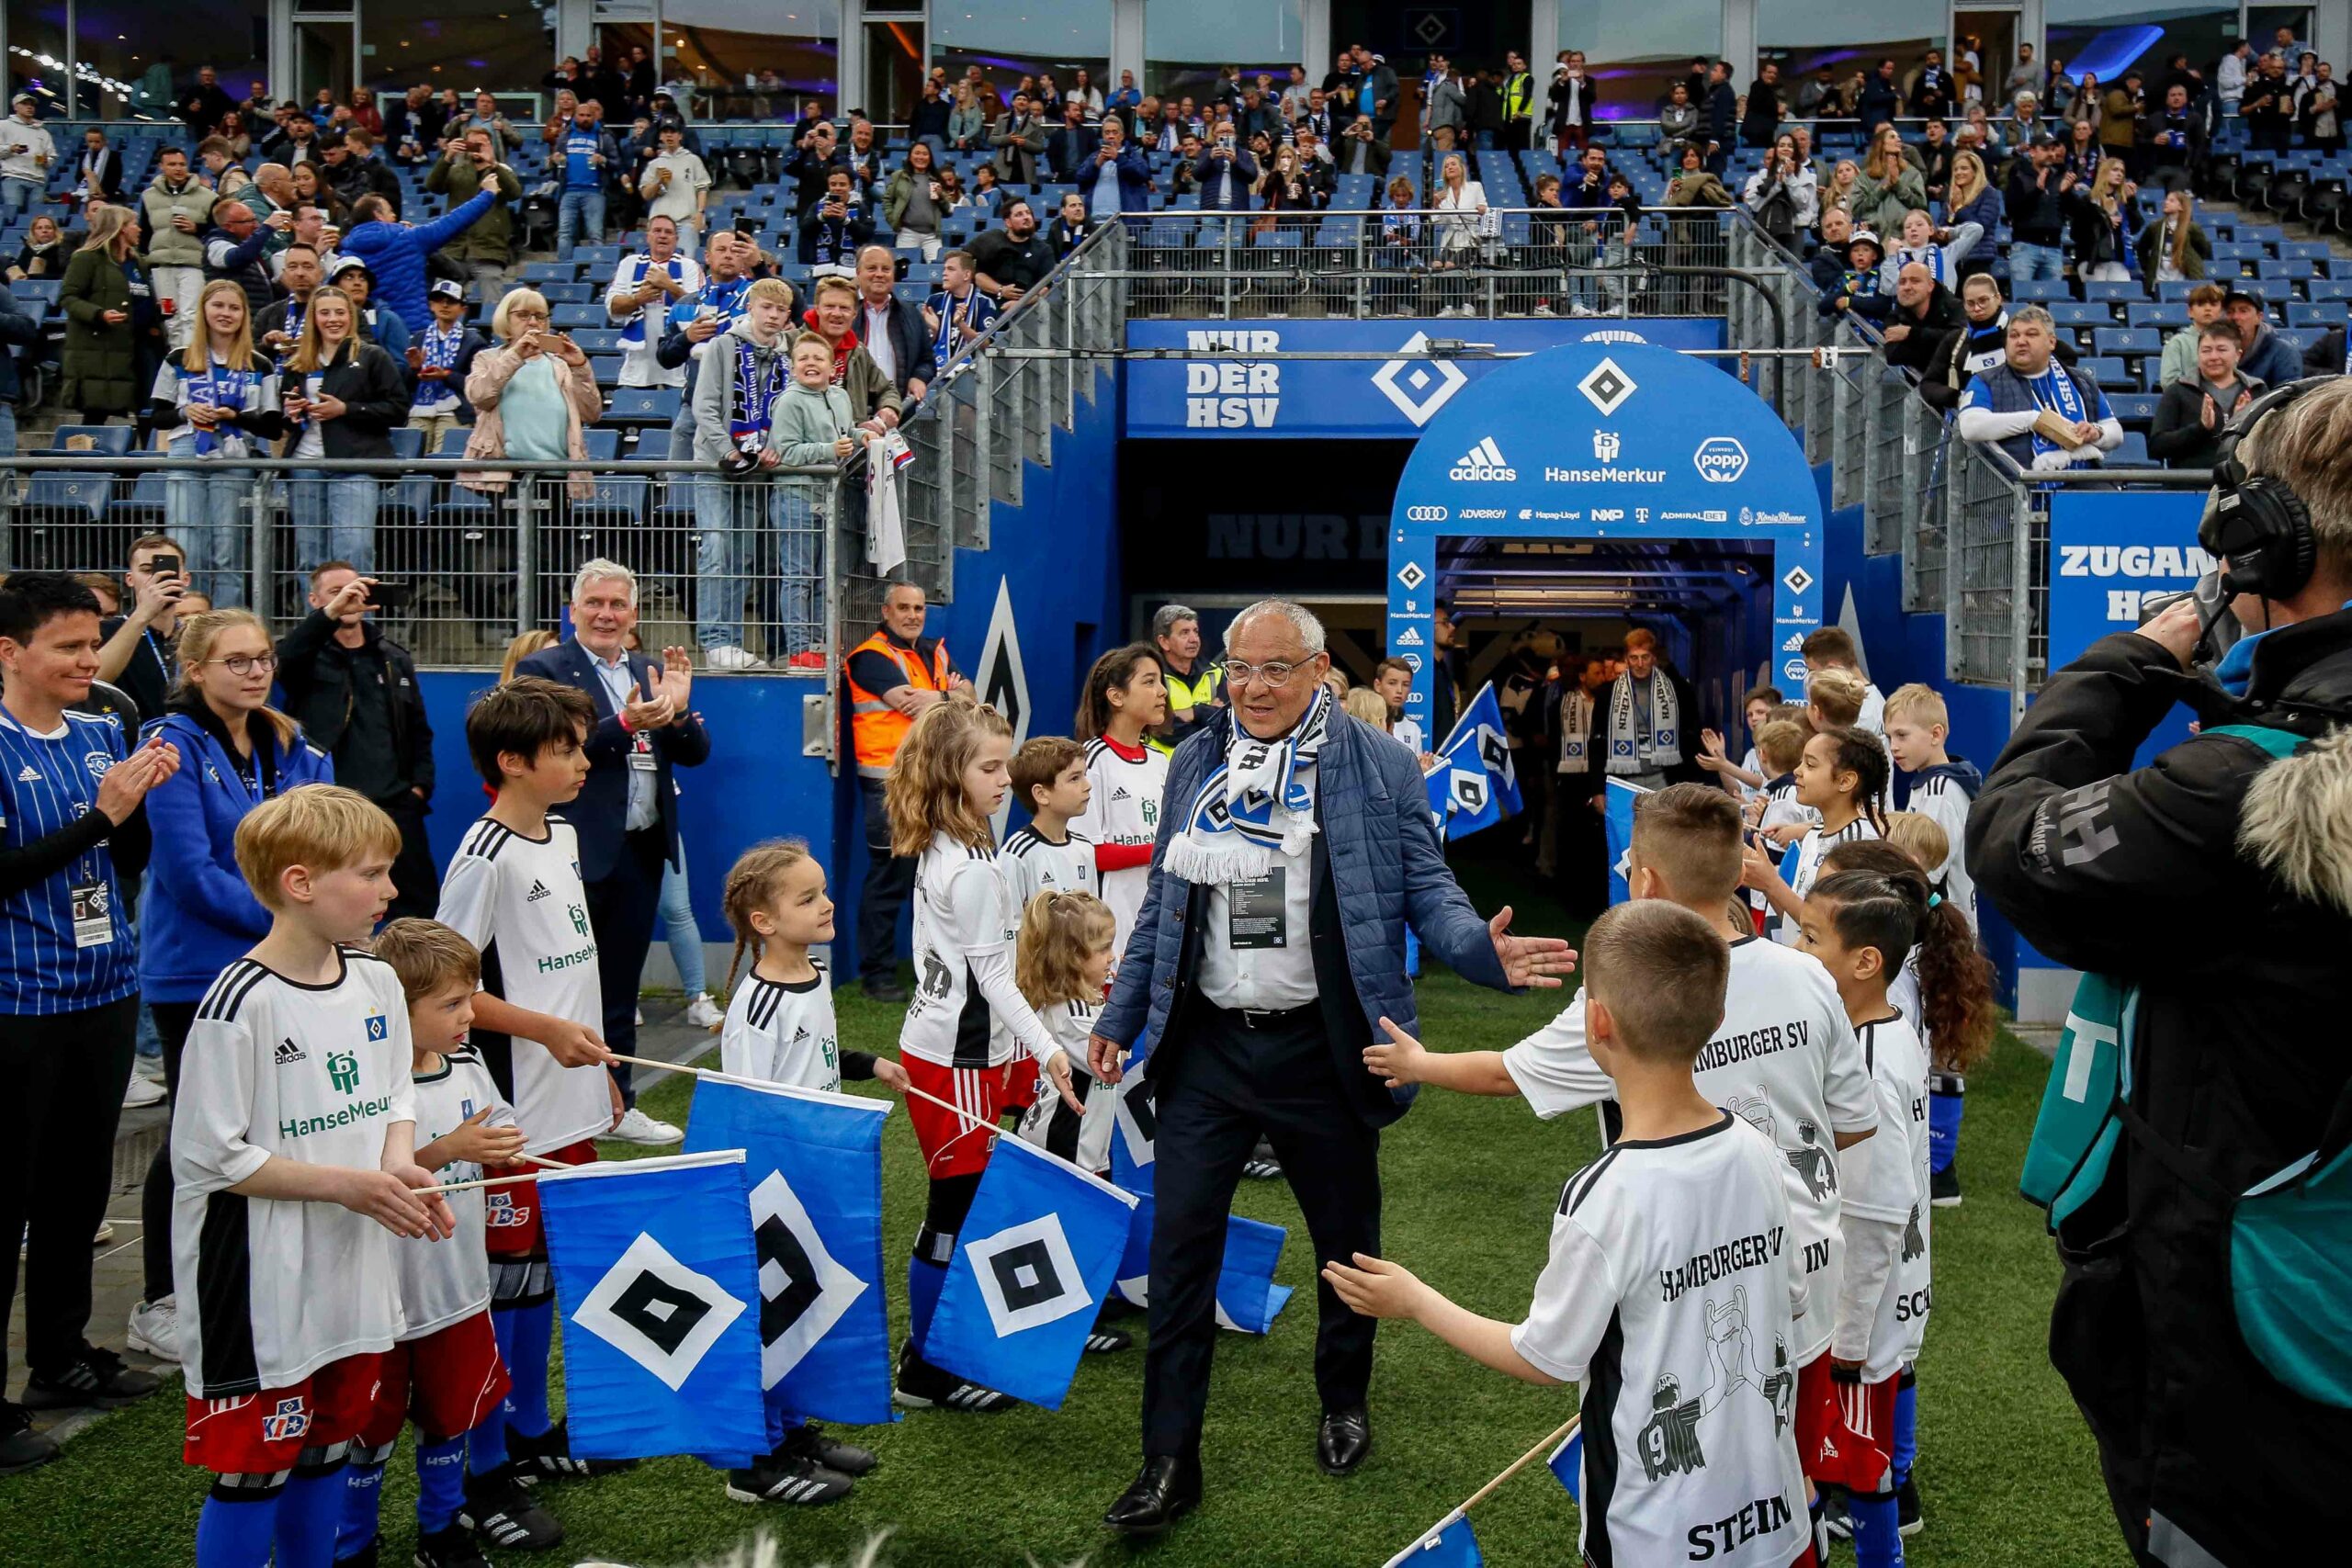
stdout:
MULTIPOLYGON (((181 771, 148 795, 155 856, 139 905, 139 990, 162 1034, 165 1091, 179 1093, 179 1056, 195 1009, 228 964, 270 931, 270 912, 238 870, 238 823, 266 799, 334 783, 334 764, 301 726, 270 708, 278 651, 245 609, 188 616, 179 630, 179 684, 139 731, 181 755, 181 771)), ((155 1150, 141 1199, 146 1291, 129 1342, 179 1361, 172 1298, 172 1150, 155 1150)))

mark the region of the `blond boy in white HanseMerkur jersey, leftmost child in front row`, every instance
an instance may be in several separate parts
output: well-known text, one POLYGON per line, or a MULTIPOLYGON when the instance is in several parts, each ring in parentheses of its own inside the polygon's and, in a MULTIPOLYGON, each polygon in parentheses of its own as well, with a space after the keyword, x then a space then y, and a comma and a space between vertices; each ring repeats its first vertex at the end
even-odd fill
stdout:
POLYGON ((198 1006, 172 1119, 183 1453, 214 1472, 198 1568, 332 1561, 343 1462, 405 1326, 393 1248, 452 1232, 416 1164, 407 999, 358 945, 400 830, 355 790, 301 785, 238 823, 235 853, 270 933, 198 1006))

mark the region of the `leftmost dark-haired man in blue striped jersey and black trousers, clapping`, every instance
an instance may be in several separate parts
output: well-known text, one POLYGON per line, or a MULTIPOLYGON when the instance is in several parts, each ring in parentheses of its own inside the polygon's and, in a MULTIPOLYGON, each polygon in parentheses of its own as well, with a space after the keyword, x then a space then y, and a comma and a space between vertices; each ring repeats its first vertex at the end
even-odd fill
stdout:
MULTIPOLYGON (((106 1218, 115 1119, 139 1030, 125 884, 146 858, 141 802, 179 771, 162 743, 71 708, 99 672, 99 602, 61 571, 0 588, 0 1074, 16 1133, 0 1147, 0 1237, 24 1237, 24 1403, 0 1399, 0 1474, 56 1458, 26 1410, 118 1408, 153 1394, 92 1347, 89 1237, 106 1218)), ((16 1293, 0 1246, 0 1331, 16 1293)), ((0 1340, 5 1345, 5 1340, 0 1340)), ((0 1349, 5 1354, 5 1349, 0 1349)), ((0 1363, 0 1387, 7 1366, 0 1363)))

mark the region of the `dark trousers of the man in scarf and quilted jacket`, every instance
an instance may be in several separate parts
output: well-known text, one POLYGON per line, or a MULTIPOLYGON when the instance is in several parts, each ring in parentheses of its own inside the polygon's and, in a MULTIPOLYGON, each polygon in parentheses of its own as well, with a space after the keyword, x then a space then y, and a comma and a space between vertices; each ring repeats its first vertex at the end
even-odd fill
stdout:
MULTIPOLYGON (((1216 1352, 1216 1276, 1225 1218, 1263 1133, 1308 1220, 1317 1269, 1381 1251, 1381 1135, 1348 1107, 1317 1006, 1261 1018, 1195 999, 1178 1025, 1183 1056, 1155 1088, 1160 1164, 1152 1178, 1150 1349, 1143 1359, 1143 1453, 1197 1455, 1216 1352)), ((1162 1046, 1164 1051, 1164 1046, 1162 1046)), ((1315 1281, 1315 1389, 1324 1410, 1364 1403, 1374 1319, 1315 1281)))

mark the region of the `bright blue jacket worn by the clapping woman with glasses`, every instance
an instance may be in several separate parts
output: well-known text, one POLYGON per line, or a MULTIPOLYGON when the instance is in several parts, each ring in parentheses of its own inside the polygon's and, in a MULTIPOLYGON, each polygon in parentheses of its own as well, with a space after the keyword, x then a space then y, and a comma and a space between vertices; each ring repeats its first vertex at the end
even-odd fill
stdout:
MULTIPOLYGON (((141 726, 179 748, 179 771, 148 790, 146 893, 139 905, 139 990, 148 1001, 202 1001, 245 950, 270 933, 270 912, 238 870, 238 823, 261 804, 228 750, 186 712, 141 726)), ((275 750, 275 736, 261 741, 275 750)), ((278 755, 275 792, 334 783, 334 762, 301 736, 278 755)))

